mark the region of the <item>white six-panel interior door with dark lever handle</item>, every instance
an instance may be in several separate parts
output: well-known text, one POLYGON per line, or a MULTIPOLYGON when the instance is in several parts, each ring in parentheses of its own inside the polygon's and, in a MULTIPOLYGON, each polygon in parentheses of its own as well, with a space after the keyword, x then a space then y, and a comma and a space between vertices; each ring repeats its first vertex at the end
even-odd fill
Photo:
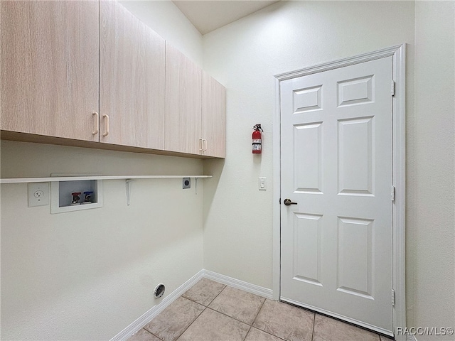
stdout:
POLYGON ((390 334, 391 82, 387 57, 280 88, 281 299, 390 334))

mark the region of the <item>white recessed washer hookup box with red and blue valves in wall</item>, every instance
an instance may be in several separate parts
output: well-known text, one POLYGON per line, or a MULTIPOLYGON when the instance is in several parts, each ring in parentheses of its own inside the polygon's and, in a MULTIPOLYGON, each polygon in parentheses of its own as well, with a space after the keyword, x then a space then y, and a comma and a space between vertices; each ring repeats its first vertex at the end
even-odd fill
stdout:
MULTIPOLYGON (((102 173, 52 173, 51 177, 100 176, 102 173)), ((102 207, 102 180, 68 180, 50 183, 50 213, 102 207)))

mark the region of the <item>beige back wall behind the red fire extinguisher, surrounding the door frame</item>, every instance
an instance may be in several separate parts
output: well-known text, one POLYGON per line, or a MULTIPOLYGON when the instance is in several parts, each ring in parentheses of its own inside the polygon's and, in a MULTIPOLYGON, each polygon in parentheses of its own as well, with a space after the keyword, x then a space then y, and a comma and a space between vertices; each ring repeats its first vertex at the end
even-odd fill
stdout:
POLYGON ((272 288, 274 75, 407 43, 412 131, 414 3, 280 1, 203 41, 204 67, 227 87, 228 98, 225 166, 204 166, 221 173, 218 183, 205 187, 214 194, 204 197, 204 266, 272 288), (264 128, 262 156, 251 153, 257 123, 264 128), (267 177, 267 191, 257 189, 259 176, 267 177))

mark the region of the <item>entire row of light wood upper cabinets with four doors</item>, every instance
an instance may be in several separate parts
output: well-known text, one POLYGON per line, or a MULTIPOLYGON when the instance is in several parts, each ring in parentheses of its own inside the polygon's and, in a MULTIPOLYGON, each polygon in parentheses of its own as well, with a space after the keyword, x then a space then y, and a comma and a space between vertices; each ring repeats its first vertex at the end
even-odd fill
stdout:
POLYGON ((116 1, 2 0, 0 29, 1 139, 225 157, 224 87, 116 1))

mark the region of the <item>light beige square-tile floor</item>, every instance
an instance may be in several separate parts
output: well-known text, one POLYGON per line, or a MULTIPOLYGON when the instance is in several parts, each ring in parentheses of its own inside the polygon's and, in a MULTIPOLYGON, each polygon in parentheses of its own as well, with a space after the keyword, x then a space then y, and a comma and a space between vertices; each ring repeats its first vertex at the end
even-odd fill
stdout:
POLYGON ((128 341, 390 341, 202 278, 128 341))

